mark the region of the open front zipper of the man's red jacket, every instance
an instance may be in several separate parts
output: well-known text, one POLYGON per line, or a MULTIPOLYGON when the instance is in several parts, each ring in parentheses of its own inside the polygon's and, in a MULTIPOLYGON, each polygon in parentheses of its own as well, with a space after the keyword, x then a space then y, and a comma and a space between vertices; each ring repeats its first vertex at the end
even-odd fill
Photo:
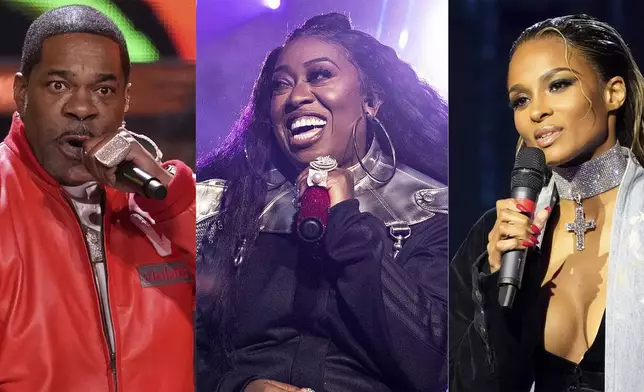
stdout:
MULTIPOLYGON (((118 392, 118 372, 116 368, 116 330, 114 329, 114 323, 112 322, 111 318, 108 319, 107 314, 105 314, 105 304, 103 297, 101 296, 100 293, 100 285, 98 283, 98 275, 96 274, 96 270, 94 269, 94 263, 92 262, 92 257, 89 251, 89 248, 87 247, 87 240, 85 238, 85 231, 83 230, 83 226, 80 222, 80 217, 78 216, 78 213, 76 212, 76 209, 73 206, 73 203, 71 200, 65 196, 63 193, 63 198, 67 201, 67 205, 69 208, 71 208, 72 212, 74 213, 74 216, 76 216, 76 223, 77 223, 77 228, 80 230, 81 237, 83 239, 83 245, 85 246, 85 252, 87 254, 87 261, 89 261, 89 267, 92 270, 92 276, 93 276, 93 281, 94 281, 94 292, 98 298, 99 302, 99 312, 101 315, 101 324, 103 326, 103 338, 105 345, 107 346, 107 351, 108 351, 108 356, 109 356, 109 366, 110 370, 112 371, 112 381, 114 382, 114 392, 118 392), (109 324, 108 324, 109 323, 109 324), (114 335, 114 345, 112 345, 111 340, 110 340, 110 335, 109 335, 109 327, 108 325, 111 325, 112 327, 112 333, 114 335)), ((103 203, 101 203, 101 209, 103 208, 103 203)), ((103 253, 103 263, 105 264, 105 286, 106 286, 106 292, 107 292, 107 307, 111 310, 110 303, 109 303, 109 289, 108 289, 108 271, 107 271, 107 256, 105 254, 105 229, 104 229, 104 222, 105 219, 101 219, 101 240, 103 241, 103 246, 102 246, 102 253, 103 253)))

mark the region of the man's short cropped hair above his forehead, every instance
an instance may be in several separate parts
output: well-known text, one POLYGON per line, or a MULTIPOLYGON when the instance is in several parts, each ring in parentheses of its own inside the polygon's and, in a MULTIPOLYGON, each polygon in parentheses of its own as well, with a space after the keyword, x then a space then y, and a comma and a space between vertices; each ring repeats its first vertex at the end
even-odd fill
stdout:
POLYGON ((125 80, 130 77, 130 55, 125 37, 116 24, 100 11, 85 5, 68 5, 49 10, 36 19, 25 36, 20 59, 20 72, 25 78, 40 62, 43 43, 60 34, 86 33, 111 39, 119 45, 125 80))

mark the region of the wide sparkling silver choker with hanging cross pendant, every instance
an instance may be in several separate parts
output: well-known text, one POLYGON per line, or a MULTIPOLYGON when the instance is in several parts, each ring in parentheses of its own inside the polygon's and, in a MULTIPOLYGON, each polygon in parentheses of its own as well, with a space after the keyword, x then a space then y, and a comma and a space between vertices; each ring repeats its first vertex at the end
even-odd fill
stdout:
POLYGON ((575 167, 553 167, 552 179, 559 197, 575 201, 575 220, 566 224, 566 230, 577 237, 577 250, 584 250, 586 232, 597 227, 594 220, 586 220, 582 201, 619 186, 626 171, 628 156, 619 143, 602 155, 575 167))

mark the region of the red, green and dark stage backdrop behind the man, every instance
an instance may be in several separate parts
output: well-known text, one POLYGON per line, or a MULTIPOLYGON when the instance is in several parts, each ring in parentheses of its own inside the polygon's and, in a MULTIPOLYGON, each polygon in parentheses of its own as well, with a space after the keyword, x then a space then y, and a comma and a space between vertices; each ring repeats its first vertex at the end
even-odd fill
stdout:
MULTIPOLYGON (((15 111, 13 75, 29 25, 43 12, 78 1, 0 1, 0 141, 15 111)), ((123 31, 132 61, 127 128, 151 137, 166 159, 195 162, 196 0, 84 2, 123 31)))

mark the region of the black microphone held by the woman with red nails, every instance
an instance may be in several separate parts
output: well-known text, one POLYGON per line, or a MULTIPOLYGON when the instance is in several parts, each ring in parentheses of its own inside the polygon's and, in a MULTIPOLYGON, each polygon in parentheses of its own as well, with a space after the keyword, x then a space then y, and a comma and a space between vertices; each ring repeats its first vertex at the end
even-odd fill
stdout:
MULTIPOLYGON (((517 154, 512 170, 511 197, 519 200, 528 211, 524 214, 530 219, 533 218, 547 170, 546 156, 540 149, 524 147, 517 154)), ((527 253, 528 249, 515 249, 505 252, 501 257, 498 287, 499 303, 504 308, 512 307, 517 290, 521 288, 527 253)))

